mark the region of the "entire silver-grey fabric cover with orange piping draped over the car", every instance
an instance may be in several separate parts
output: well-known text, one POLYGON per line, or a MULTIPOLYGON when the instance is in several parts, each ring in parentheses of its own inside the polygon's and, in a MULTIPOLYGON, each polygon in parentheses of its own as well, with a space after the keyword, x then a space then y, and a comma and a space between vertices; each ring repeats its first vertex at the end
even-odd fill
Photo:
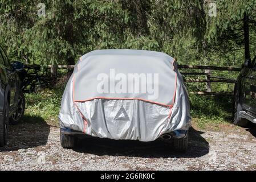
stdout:
POLYGON ((189 99, 165 53, 97 50, 80 57, 68 80, 60 127, 100 138, 152 141, 188 130, 189 99))

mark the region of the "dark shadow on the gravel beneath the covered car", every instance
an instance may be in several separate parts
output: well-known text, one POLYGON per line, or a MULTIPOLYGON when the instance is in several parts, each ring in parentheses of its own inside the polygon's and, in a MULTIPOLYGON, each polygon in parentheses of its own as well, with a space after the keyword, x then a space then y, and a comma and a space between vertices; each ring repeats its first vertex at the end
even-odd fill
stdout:
POLYGON ((203 132, 190 128, 189 146, 185 154, 174 151, 172 143, 163 140, 139 142, 136 140, 111 140, 100 138, 80 139, 76 152, 99 156, 137 156, 141 158, 198 158, 209 152, 209 143, 201 137, 203 132))

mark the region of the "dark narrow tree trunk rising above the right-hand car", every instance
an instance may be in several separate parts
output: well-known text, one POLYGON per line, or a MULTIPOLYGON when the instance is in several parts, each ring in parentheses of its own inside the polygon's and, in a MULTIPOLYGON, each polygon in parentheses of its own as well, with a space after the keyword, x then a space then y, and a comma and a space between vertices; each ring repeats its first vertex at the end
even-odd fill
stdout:
POLYGON ((249 41, 249 18, 247 14, 243 17, 243 34, 245 43, 245 59, 250 59, 250 41, 249 41))

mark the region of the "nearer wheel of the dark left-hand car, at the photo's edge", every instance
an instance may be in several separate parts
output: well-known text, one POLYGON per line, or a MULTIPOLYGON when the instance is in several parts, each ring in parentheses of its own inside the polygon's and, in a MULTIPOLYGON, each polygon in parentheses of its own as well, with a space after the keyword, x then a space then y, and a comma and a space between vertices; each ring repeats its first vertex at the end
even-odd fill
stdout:
POLYGON ((9 102, 6 102, 5 114, 3 115, 3 121, 0 121, 0 147, 7 144, 9 127, 9 102))

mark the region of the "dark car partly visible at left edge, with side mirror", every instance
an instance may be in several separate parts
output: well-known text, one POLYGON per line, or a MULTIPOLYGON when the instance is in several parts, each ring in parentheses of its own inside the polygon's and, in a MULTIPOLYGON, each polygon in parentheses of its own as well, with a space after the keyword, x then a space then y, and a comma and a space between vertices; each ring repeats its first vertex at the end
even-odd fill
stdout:
POLYGON ((0 47, 0 147, 7 143, 9 121, 18 123, 25 111, 25 98, 18 76, 23 67, 18 61, 10 64, 0 47))

